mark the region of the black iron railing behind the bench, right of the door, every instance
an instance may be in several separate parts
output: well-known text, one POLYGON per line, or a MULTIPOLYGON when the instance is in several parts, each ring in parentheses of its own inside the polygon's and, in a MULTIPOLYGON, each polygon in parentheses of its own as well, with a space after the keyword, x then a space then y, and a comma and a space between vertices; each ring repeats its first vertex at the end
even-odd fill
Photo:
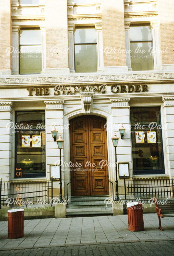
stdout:
POLYGON ((148 201, 153 197, 167 199, 174 195, 174 177, 124 178, 124 186, 125 199, 129 201, 148 201))

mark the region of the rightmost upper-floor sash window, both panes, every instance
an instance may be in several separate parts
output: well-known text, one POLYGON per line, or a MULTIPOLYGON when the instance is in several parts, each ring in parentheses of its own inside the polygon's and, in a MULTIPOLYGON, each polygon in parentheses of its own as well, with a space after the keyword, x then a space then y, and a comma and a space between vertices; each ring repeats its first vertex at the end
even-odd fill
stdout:
POLYGON ((132 70, 153 70, 151 26, 132 26, 129 33, 132 70))

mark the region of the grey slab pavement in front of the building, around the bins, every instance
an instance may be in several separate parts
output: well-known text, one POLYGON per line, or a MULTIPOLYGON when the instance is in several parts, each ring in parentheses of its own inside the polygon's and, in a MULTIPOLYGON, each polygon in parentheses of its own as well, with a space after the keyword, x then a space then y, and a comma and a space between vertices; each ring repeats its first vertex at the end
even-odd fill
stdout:
POLYGON ((161 219, 161 224, 164 231, 158 229, 156 214, 144 214, 145 230, 142 232, 128 230, 127 215, 25 220, 24 237, 10 240, 7 239, 7 222, 2 221, 0 222, 0 248, 4 250, 66 246, 66 244, 174 240, 174 217, 165 218, 165 221, 161 219))

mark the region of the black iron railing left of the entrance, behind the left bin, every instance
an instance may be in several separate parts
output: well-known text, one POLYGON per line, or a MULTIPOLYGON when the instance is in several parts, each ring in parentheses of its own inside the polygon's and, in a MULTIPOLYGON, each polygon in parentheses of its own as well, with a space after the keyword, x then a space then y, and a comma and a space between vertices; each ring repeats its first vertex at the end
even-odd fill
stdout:
POLYGON ((0 209, 3 205, 28 206, 49 204, 53 198, 51 180, 0 180, 0 209))

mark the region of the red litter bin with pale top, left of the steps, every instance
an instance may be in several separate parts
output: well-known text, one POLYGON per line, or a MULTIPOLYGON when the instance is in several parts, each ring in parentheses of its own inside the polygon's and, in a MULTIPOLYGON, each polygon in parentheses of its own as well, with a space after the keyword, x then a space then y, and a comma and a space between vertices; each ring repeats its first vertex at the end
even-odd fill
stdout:
POLYGON ((8 210, 8 239, 23 237, 24 209, 8 210))

